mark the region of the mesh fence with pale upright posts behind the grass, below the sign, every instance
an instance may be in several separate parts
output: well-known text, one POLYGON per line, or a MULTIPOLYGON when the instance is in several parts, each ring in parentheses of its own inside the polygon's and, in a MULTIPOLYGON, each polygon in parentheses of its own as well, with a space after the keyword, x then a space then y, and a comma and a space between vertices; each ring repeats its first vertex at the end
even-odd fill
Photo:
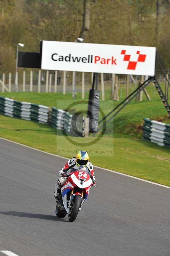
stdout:
MULTIPOLYGON (((72 92, 76 90, 89 91, 92 84, 93 73, 76 72, 76 77, 73 79, 73 72, 70 71, 46 71, 46 70, 25 70, 22 73, 17 73, 17 81, 15 74, 0 74, 0 92, 72 92), (75 89, 74 89, 75 88, 75 89)), ((145 79, 143 76, 116 76, 116 86, 119 90, 119 99, 123 98, 123 89, 127 88, 129 92, 134 90, 139 81, 145 79), (127 81, 127 78, 129 81, 127 81)), ((165 83, 165 76, 157 74, 159 83, 165 83)), ((99 74, 99 87, 102 89, 102 99, 104 100, 104 90, 110 90, 113 86, 113 74, 99 74)), ((115 82, 114 82, 115 83, 115 82)), ((155 94, 153 88, 153 95, 155 94)), ((118 100, 118 99, 117 99, 118 100)))

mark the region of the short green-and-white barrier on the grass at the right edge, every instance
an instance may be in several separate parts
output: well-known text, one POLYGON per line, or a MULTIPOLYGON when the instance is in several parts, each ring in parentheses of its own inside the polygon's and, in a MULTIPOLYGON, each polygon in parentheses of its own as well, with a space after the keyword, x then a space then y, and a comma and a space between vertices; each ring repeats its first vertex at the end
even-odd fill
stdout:
POLYGON ((170 148, 170 124, 143 118, 143 137, 160 146, 170 148))

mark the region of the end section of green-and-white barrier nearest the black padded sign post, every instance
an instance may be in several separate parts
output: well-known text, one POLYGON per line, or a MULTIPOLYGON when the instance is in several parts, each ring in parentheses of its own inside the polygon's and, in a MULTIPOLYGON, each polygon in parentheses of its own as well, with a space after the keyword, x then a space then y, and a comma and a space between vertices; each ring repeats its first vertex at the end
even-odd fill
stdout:
POLYGON ((52 107, 49 123, 54 128, 71 132, 72 115, 68 112, 52 107))

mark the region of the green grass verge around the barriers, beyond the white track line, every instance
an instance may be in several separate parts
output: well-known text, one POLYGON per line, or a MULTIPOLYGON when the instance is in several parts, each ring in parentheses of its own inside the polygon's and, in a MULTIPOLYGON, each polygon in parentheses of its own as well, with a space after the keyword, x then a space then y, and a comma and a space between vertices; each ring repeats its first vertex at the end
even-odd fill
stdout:
MULTIPOLYGON (((1 95, 46 106, 56 106, 56 100, 63 99, 63 95, 60 93, 15 92, 1 95)), ((67 93, 65 97, 69 100, 71 93, 67 93)), ((66 103, 65 100, 62 102, 61 108, 65 108, 68 102, 66 103)), ((103 108, 107 108, 105 110, 109 111, 112 109, 112 101, 110 103, 108 101, 101 102, 100 106, 102 104, 103 108)), ((118 103, 114 102, 114 104, 118 103)), ((114 119, 113 154, 100 155, 91 153, 90 160, 94 165, 170 186, 170 149, 143 140, 140 128, 140 124, 143 123, 143 117, 150 117, 151 119, 170 123, 164 106, 157 97, 151 102, 147 100, 132 102, 114 119)), ((113 136, 111 134, 111 127, 112 125, 108 128, 110 134, 105 134, 96 144, 90 147, 83 147, 83 149, 88 151, 104 149, 112 151, 113 136)), ((81 149, 81 147, 68 142, 61 131, 56 131, 49 125, 2 115, 0 116, 0 137, 66 157, 71 157, 73 150, 81 149), (69 153, 69 151, 72 152, 69 153)), ((77 138, 76 140, 79 142, 89 142, 91 137, 77 138)))

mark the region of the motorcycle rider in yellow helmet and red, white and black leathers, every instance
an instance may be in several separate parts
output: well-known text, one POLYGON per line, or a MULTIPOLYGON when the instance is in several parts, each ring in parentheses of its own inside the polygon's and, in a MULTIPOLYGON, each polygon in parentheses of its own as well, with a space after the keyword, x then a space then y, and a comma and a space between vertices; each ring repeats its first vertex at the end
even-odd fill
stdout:
POLYGON ((80 169, 82 171, 84 170, 85 172, 88 171, 90 178, 93 181, 93 184, 96 185, 93 165, 89 161, 89 155, 86 151, 79 151, 77 153, 77 156, 71 158, 66 163, 66 165, 59 171, 59 175, 61 176, 61 178, 58 179, 58 181, 55 185, 55 192, 54 192, 54 197, 55 197, 56 201, 59 200, 59 196, 61 194, 61 187, 64 185, 67 178, 69 177, 69 173, 73 172, 73 170, 71 168, 73 168, 74 171, 78 171, 80 169))

